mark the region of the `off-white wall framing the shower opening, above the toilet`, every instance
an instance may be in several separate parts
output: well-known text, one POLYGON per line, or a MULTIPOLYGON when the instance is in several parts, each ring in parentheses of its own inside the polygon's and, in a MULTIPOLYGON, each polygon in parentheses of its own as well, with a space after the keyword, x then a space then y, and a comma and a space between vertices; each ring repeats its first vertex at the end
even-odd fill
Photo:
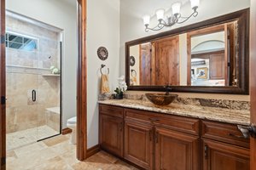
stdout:
POLYGON ((61 0, 6 0, 6 8, 64 30, 62 56, 62 126, 76 115, 77 8, 61 0))

